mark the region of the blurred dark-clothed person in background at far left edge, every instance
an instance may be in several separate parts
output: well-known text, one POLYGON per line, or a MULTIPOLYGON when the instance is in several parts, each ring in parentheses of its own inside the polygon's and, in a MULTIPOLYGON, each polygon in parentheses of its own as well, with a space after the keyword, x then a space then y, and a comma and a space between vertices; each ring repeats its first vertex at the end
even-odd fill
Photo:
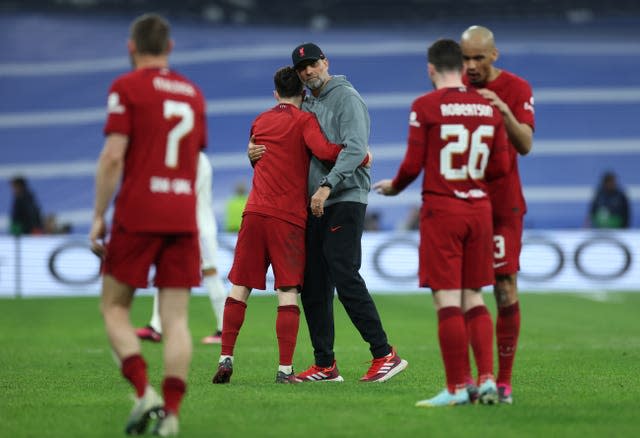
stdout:
POLYGON ((27 180, 23 176, 11 179, 13 189, 13 205, 11 206, 11 234, 40 234, 43 231, 40 205, 29 189, 27 180))

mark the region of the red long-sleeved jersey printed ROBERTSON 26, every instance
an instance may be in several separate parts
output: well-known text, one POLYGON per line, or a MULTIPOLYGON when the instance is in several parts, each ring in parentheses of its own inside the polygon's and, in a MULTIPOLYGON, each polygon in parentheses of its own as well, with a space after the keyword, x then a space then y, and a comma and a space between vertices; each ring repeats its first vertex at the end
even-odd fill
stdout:
POLYGON ((422 199, 434 212, 489 208, 487 179, 507 172, 502 115, 477 91, 442 88, 417 98, 404 160, 393 180, 403 190, 421 172, 422 199))

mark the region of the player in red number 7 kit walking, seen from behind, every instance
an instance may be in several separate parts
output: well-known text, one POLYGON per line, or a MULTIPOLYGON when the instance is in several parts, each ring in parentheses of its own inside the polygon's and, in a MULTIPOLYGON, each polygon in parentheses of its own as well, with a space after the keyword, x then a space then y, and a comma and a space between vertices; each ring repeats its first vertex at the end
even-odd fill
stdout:
POLYGON ((192 351, 190 288, 200 284, 194 185, 198 153, 206 145, 205 103, 196 85, 169 69, 169 31, 168 22, 156 14, 142 15, 131 26, 128 50, 134 70, 109 90, 89 234, 93 251, 103 257, 101 309, 107 335, 122 374, 136 391, 126 426, 126 433, 136 435, 145 432, 154 414, 159 417, 154 434, 178 433, 192 351), (118 184, 105 248, 100 242, 106 234, 104 215, 118 184), (148 383, 130 320, 135 290, 147 287, 151 265, 165 338, 164 400, 148 383))

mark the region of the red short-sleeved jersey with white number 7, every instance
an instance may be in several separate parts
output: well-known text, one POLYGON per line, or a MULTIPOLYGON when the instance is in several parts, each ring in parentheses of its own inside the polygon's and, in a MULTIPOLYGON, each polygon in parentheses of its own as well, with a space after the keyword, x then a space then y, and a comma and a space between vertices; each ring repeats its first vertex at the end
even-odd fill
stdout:
POLYGON ((138 232, 197 231, 195 178, 207 136, 198 87, 166 68, 126 73, 109 90, 104 132, 129 137, 114 223, 138 232))

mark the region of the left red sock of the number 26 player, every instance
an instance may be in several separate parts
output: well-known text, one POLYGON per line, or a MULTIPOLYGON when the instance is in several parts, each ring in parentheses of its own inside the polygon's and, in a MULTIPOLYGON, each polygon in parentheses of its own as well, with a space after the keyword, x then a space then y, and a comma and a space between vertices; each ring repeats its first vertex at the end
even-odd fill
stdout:
POLYGON ((468 361, 469 354, 462 309, 451 306, 438 310, 438 339, 447 376, 447 389, 454 393, 456 388, 465 385, 465 356, 468 361))

